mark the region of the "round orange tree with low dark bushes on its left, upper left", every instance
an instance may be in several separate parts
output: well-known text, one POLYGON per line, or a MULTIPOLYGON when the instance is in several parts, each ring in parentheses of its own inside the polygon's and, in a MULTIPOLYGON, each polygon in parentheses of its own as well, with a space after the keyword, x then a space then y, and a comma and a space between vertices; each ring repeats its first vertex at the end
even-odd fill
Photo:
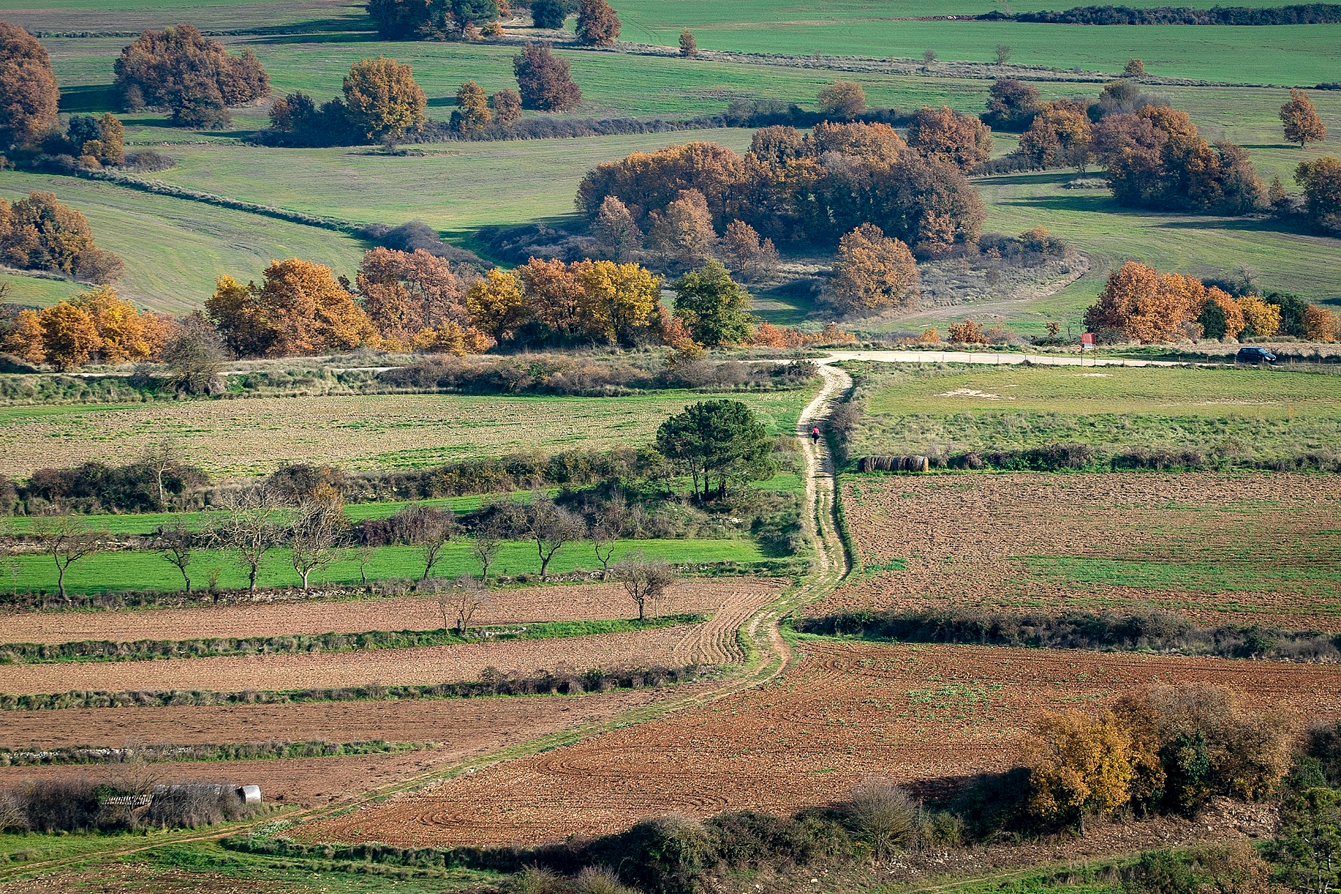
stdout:
POLYGON ((270 138, 290 145, 347 145, 397 139, 424 125, 428 98, 410 66, 378 56, 361 59, 345 75, 343 99, 316 105, 291 92, 270 110, 270 138))

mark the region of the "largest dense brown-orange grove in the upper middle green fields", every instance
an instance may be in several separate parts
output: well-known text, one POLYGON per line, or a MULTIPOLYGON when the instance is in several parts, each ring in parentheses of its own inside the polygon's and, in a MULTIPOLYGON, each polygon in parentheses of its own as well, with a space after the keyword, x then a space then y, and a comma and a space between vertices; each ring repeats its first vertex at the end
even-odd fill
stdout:
MULTIPOLYGON (((960 133, 978 145, 972 129, 960 133)), ((874 224, 913 253, 935 256, 975 241, 984 210, 963 172, 943 159, 947 142, 928 135, 923 145, 928 154, 880 123, 822 122, 810 134, 763 127, 744 157, 692 142, 602 164, 582 180, 577 204, 595 221, 614 197, 644 231, 693 217, 711 220, 715 236, 740 220, 790 244, 833 245, 874 224)))

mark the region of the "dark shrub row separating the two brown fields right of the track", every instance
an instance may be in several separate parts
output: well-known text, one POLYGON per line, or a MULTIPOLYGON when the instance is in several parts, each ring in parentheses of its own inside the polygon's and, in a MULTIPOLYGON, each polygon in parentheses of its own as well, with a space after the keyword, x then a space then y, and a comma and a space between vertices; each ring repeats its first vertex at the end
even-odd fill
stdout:
POLYGON ((945 611, 849 611, 794 622, 802 633, 893 642, 945 642, 1038 649, 1152 650, 1223 658, 1341 659, 1341 635, 1258 625, 1199 626, 1177 613, 1096 614, 1067 611, 982 614, 945 611))

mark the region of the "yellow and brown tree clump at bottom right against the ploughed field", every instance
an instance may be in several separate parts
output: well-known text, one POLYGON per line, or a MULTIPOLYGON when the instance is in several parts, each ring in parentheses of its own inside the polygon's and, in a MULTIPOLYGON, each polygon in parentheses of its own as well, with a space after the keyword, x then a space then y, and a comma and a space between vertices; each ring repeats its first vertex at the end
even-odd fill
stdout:
POLYGON ((1212 796, 1257 800, 1291 764, 1281 717, 1244 712, 1218 686, 1152 688, 1092 717, 1045 713, 1027 749, 1027 808, 1081 827, 1116 811, 1193 815, 1212 796))

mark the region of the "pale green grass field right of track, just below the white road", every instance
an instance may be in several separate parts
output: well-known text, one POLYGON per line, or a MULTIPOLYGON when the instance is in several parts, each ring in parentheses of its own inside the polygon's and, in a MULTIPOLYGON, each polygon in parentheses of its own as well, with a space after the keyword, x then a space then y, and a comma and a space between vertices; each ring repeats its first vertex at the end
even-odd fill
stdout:
POLYGON ((1149 446, 1274 458, 1334 450, 1341 378, 1235 369, 902 367, 862 386, 852 456, 1149 446))

